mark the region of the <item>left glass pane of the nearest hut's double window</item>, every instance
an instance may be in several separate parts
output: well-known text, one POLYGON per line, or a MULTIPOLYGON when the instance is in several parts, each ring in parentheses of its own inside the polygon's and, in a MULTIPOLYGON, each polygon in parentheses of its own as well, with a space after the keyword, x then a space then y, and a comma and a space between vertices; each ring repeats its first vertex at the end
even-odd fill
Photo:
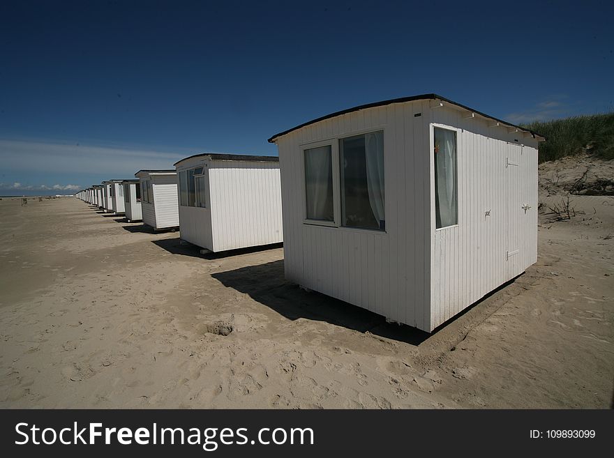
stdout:
POLYGON ((305 150, 305 193, 309 220, 333 221, 332 147, 305 150))

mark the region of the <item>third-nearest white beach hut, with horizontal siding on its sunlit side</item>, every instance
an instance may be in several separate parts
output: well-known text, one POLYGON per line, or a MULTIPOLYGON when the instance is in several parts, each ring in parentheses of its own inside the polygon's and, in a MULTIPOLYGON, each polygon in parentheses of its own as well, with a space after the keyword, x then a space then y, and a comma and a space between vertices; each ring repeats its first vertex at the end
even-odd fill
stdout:
POLYGON ((155 230, 179 227, 177 171, 140 170, 135 176, 140 180, 143 223, 155 230))

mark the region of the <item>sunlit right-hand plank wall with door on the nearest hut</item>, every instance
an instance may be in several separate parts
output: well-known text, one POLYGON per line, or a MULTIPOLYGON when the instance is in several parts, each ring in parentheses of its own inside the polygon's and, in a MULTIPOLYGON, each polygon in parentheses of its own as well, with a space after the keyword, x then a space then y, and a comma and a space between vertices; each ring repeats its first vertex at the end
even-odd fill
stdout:
POLYGON ((454 108, 431 114, 433 123, 459 129, 458 225, 435 230, 434 183, 432 188, 433 329, 537 261, 537 141, 488 127, 484 119, 465 119, 454 108), (506 158, 516 158, 518 166, 506 167, 506 158), (531 206, 527 213, 525 203, 531 206), (519 252, 507 259, 508 250, 519 252))

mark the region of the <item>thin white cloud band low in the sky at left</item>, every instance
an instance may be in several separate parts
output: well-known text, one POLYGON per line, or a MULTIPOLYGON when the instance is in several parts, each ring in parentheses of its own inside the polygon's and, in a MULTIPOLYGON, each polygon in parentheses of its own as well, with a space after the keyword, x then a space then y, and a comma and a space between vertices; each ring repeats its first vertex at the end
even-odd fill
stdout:
POLYGON ((191 153, 153 151, 121 146, 92 146, 0 139, 4 170, 50 174, 133 176, 140 169, 170 169, 191 153))

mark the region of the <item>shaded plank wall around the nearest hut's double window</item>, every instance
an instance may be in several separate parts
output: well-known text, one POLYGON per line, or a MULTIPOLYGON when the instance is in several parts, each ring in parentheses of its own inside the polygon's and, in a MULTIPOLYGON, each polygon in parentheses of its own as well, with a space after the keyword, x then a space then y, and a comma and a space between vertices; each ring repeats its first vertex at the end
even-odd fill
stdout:
POLYGON ((428 100, 373 107, 278 139, 288 280, 431 330, 429 112, 428 100), (301 145, 382 129, 386 231, 304 224, 301 145))

